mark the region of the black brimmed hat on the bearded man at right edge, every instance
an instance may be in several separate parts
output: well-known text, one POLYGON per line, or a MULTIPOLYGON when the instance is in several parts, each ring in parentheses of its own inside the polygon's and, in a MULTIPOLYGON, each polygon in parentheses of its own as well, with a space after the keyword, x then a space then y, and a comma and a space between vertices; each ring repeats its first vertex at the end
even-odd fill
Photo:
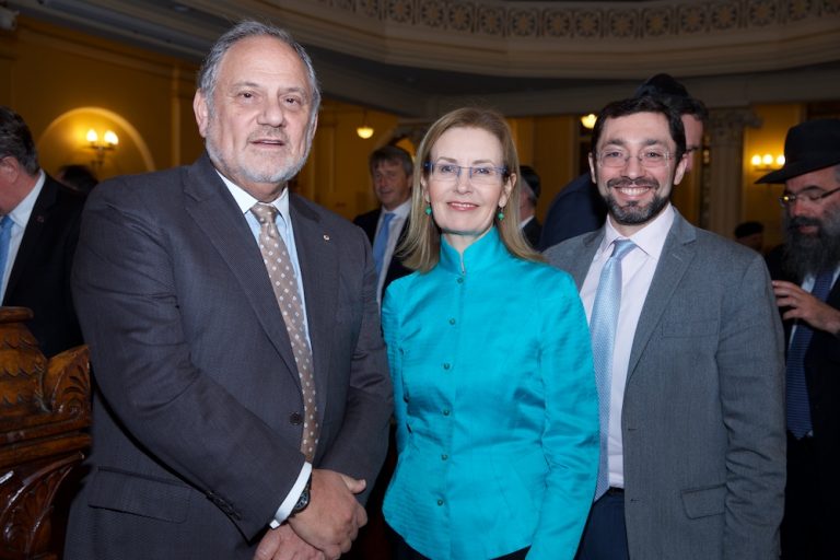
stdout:
POLYGON ((840 119, 806 120, 788 130, 784 166, 756 183, 785 180, 840 163, 840 119))

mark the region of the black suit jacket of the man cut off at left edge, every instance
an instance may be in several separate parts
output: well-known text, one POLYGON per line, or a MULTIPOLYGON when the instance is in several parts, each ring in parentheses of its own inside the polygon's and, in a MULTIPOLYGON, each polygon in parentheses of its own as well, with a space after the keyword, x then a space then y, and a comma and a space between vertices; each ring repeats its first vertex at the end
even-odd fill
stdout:
POLYGON ((70 271, 84 198, 49 175, 35 200, 14 258, 3 305, 28 307, 26 323, 52 357, 82 343, 70 293, 70 271))

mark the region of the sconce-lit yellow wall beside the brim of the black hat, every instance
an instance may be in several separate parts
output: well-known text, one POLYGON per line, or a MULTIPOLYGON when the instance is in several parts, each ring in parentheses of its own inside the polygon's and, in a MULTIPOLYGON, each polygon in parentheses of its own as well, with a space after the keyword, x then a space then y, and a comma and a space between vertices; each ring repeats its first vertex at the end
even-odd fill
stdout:
POLYGON ((783 185, 756 185, 767 171, 756 171, 750 164, 754 154, 781 154, 788 129, 805 118, 805 107, 798 104, 755 105, 752 112, 761 119, 760 128, 744 131, 742 221, 765 224, 765 249, 783 242, 782 208, 779 196, 783 185))

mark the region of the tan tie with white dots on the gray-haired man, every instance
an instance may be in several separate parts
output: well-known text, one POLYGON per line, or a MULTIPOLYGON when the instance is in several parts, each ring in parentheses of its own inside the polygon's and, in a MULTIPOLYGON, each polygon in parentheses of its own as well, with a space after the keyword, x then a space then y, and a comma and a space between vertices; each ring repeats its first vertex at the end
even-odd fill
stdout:
POLYGON ((315 401, 315 373, 312 364, 312 350, 306 339, 303 306, 298 280, 294 275, 292 259, 285 248, 283 238, 277 230, 277 208, 271 205, 257 202, 250 209, 259 221, 259 250, 262 253, 262 261, 268 269, 271 287, 275 290, 277 303, 283 314, 285 329, 289 331, 289 340, 292 342, 294 362, 298 365, 298 375, 301 377, 303 393, 303 440, 301 452, 306 460, 312 463, 315 448, 318 444, 320 428, 318 427, 318 409, 315 401))

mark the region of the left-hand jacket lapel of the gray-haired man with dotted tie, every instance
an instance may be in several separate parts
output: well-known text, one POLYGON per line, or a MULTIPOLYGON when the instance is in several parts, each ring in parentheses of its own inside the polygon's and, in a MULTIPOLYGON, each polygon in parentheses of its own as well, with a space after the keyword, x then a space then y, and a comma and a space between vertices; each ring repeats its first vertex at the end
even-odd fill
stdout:
POLYGON ((186 170, 184 190, 186 213, 226 262, 294 383, 300 386, 289 332, 254 234, 207 154, 186 170))

